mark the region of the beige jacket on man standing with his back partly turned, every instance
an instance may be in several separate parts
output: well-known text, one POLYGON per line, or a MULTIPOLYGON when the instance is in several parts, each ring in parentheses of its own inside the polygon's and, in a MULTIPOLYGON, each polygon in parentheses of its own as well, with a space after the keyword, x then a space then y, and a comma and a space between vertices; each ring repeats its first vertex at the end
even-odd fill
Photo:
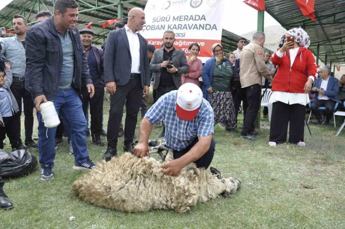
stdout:
POLYGON ((264 49, 251 41, 240 55, 240 80, 242 88, 261 85, 262 76, 269 75, 264 61, 264 49))

